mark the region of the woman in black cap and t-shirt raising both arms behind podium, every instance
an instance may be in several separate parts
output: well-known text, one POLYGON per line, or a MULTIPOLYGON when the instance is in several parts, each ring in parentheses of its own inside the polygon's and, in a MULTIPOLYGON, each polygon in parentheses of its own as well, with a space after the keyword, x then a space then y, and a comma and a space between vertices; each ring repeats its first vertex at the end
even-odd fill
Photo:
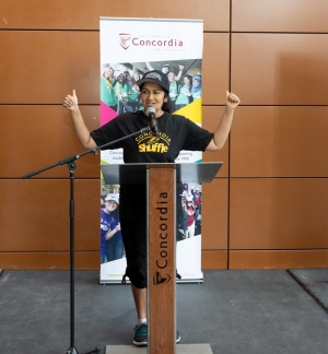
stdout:
MULTIPOLYGON (((218 119, 216 130, 209 132, 184 116, 171 114, 169 81, 162 71, 147 72, 137 85, 140 87, 143 110, 121 114, 92 132, 82 118, 75 91, 66 96, 63 107, 71 113, 75 134, 83 148, 94 149, 114 142, 110 150, 122 148, 125 163, 174 163, 181 150, 222 149, 231 129, 234 109, 239 104, 235 94, 226 92, 225 111, 218 119), (153 131, 116 142, 150 125, 153 131)), ((145 187, 120 185, 119 213, 127 258, 126 275, 131 281, 137 310, 133 344, 141 346, 148 344, 145 187)), ((177 333, 176 341, 179 340, 177 333)))

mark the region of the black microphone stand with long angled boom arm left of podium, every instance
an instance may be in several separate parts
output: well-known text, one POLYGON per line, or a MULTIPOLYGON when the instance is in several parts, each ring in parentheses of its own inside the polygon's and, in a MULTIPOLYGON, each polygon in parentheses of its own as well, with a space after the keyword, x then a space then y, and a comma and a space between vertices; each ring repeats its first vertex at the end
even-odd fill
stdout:
MULTIPOLYGON (((145 131, 150 131, 150 127, 142 128, 141 130, 131 133, 129 135, 122 137, 120 139, 117 139, 115 141, 112 141, 109 143, 103 144, 101 146, 97 146, 95 149, 90 149, 87 151, 84 151, 81 154, 72 155, 69 157, 66 157, 63 160, 60 160, 58 163, 46 166, 44 168, 34 170, 30 174, 26 174, 22 176, 23 179, 31 178, 37 174, 40 174, 47 169, 54 168, 59 165, 67 165, 70 172, 70 203, 69 203, 69 216, 70 216, 70 347, 67 350, 67 354, 79 354, 78 350, 74 346, 74 174, 75 174, 75 160, 81 158, 84 155, 87 155, 90 153, 93 153, 94 155, 97 154, 97 150, 102 150, 104 148, 107 148, 108 145, 112 145, 116 142, 119 142, 121 140, 134 137, 137 134, 143 133, 145 131)), ((97 353, 99 352, 98 347, 94 347, 90 352, 86 352, 84 354, 91 354, 91 353, 97 353)))

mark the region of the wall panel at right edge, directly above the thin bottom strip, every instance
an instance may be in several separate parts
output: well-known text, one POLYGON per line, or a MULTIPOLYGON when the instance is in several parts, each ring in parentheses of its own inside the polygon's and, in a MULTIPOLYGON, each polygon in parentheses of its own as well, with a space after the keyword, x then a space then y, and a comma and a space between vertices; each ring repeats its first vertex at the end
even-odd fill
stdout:
POLYGON ((328 248, 328 178, 232 179, 232 250, 328 248))

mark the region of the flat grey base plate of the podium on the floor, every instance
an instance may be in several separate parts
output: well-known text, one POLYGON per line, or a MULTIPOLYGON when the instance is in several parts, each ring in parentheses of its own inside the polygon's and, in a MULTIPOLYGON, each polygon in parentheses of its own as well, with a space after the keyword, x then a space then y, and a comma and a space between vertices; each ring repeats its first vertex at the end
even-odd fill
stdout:
MULTIPOLYGON (((105 354, 147 354, 147 346, 106 345, 105 354)), ((177 344, 176 354, 213 354, 210 344, 177 344)))

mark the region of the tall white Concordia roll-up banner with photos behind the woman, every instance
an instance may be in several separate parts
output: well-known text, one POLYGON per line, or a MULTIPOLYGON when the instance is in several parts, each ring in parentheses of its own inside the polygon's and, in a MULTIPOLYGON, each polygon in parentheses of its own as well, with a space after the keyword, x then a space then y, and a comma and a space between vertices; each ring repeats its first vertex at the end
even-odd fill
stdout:
MULTIPOLYGON (((154 69, 167 74, 173 115, 201 126, 202 46, 201 20, 101 17, 101 126, 120 114, 143 109, 136 82, 154 69)), ((175 162, 199 163, 201 158, 201 152, 181 151, 175 162)), ((103 165, 124 164, 122 151, 102 151, 101 161, 103 165)), ((119 185, 106 185, 103 176, 101 181, 101 283, 119 283, 126 270, 119 185)), ((180 282, 199 282, 201 185, 183 182, 176 267, 180 282)))

